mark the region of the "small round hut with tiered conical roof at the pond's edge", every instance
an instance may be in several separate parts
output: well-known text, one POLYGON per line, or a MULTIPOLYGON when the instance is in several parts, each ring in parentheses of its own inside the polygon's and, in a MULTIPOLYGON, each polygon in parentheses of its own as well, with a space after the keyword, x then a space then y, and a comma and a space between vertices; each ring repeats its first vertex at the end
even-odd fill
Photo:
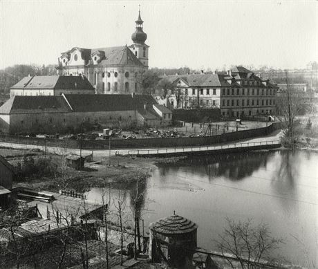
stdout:
POLYGON ((186 257, 191 259, 196 248, 198 225, 183 216, 173 214, 149 225, 149 256, 152 261, 164 260, 183 268, 186 257))

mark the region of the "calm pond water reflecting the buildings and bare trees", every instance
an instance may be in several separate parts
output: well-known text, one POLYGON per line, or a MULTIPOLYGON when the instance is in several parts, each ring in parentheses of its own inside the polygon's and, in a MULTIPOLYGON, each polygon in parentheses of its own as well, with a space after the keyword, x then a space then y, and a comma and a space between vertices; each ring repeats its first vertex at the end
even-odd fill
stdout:
MULTIPOLYGON (((223 231, 226 216, 268 223, 274 235, 286 239, 279 254, 302 263, 303 252, 292 236, 301 235, 315 259, 317 164, 318 154, 303 151, 191 157, 158 167, 138 186, 113 186, 109 195, 124 189, 127 204, 133 207, 137 201, 146 226, 176 210, 198 224, 203 248, 215 248, 213 239, 223 231)), ((100 189, 88 193, 88 198, 98 197, 100 189)))

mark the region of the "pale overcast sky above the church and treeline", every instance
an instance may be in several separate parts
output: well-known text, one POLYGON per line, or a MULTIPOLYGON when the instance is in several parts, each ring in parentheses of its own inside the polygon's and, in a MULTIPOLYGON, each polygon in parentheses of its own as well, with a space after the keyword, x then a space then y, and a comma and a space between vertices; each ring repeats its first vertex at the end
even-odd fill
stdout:
POLYGON ((129 45, 138 4, 150 67, 303 68, 318 60, 318 1, 0 0, 0 68, 57 64, 75 46, 129 45))

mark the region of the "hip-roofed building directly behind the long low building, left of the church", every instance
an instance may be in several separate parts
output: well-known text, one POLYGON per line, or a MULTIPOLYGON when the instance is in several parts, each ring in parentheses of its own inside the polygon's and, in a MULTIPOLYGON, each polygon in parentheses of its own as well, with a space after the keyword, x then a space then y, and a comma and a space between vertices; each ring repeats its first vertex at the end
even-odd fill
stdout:
POLYGON ((24 77, 10 89, 10 97, 15 95, 62 95, 64 94, 94 94, 95 89, 86 77, 41 75, 24 77))

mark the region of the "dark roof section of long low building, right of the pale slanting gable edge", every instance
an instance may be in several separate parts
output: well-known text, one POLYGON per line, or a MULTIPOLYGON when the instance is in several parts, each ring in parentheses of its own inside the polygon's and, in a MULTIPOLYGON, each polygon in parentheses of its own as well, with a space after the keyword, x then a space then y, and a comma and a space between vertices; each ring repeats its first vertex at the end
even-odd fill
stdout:
POLYGON ((73 111, 133 111, 144 109, 144 104, 157 104, 151 95, 95 95, 66 94, 66 99, 73 111))

